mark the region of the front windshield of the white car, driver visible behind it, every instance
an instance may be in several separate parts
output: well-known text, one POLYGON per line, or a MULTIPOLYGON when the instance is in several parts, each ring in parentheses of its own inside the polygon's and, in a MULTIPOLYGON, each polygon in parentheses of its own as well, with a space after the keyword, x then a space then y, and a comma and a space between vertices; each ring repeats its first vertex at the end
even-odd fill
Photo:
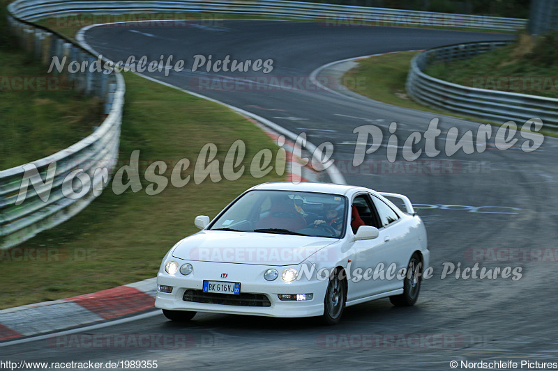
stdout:
POLYGON ((255 190, 236 200, 209 229, 339 238, 346 225, 345 196, 255 190))

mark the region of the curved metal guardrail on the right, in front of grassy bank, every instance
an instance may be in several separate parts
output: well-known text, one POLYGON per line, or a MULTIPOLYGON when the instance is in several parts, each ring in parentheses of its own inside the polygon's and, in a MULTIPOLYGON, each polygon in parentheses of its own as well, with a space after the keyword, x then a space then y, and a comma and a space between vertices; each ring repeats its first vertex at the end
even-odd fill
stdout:
POLYGON ((558 127, 558 99, 499 90, 472 88, 425 74, 428 63, 470 58, 507 45, 509 41, 469 42, 429 49, 415 56, 407 75, 407 94, 436 109, 444 109, 491 121, 524 123, 538 117, 546 127, 558 127))

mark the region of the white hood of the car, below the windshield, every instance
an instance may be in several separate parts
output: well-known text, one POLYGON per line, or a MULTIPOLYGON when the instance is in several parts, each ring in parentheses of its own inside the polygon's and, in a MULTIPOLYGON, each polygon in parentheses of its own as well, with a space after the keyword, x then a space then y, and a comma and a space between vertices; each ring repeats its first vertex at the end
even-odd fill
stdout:
MULTIPOLYGON (((183 260, 205 262, 296 265, 335 242, 338 242, 338 239, 202 230, 176 244, 172 256, 183 260)), ((320 259, 327 259, 327 257, 322 256, 320 259)))

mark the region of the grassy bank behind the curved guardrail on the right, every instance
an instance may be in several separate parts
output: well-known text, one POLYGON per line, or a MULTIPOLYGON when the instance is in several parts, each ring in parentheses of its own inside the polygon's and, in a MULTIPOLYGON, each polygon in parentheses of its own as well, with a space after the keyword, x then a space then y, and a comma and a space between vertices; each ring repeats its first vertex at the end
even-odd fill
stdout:
POLYGON ((558 33, 538 40, 522 35, 506 47, 452 63, 433 63, 432 77, 465 86, 558 97, 558 33))

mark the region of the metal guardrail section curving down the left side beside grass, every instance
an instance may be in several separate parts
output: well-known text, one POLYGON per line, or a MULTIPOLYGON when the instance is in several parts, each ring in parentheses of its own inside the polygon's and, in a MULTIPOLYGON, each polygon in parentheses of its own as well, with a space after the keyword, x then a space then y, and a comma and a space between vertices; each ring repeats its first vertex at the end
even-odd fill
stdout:
MULTIPOLYGON (((50 64, 53 56, 59 58, 67 56, 70 61, 80 63, 82 61, 91 63, 96 59, 96 56, 63 35, 24 21, 19 9, 33 8, 33 4, 40 4, 40 2, 20 0, 8 6, 10 29, 27 52, 34 54, 45 65, 50 64)), ((89 72, 88 69, 77 74, 63 73, 59 77, 68 79, 75 90, 100 97, 105 102, 107 117, 93 134, 69 148, 29 164, 0 171, 0 248, 19 244, 80 212, 95 198, 94 194, 100 194, 107 184, 106 178, 103 181, 102 177, 94 176, 96 170, 106 168, 108 175, 116 164, 125 90, 121 74, 89 72), (50 164, 53 163, 56 164, 54 173, 52 173, 53 168, 49 171, 52 166, 50 164), (27 196, 23 202, 18 201, 17 197, 24 179, 31 179, 25 176, 25 172, 33 168, 36 168, 43 182, 47 180, 47 173, 54 174, 52 188, 35 189, 29 183, 27 196), (82 169, 92 181, 89 191, 78 199, 71 199, 64 196, 63 189, 73 187, 73 184, 68 182, 71 177, 67 176, 77 169, 82 169)), ((77 192, 79 188, 77 187, 75 191, 77 192)))

